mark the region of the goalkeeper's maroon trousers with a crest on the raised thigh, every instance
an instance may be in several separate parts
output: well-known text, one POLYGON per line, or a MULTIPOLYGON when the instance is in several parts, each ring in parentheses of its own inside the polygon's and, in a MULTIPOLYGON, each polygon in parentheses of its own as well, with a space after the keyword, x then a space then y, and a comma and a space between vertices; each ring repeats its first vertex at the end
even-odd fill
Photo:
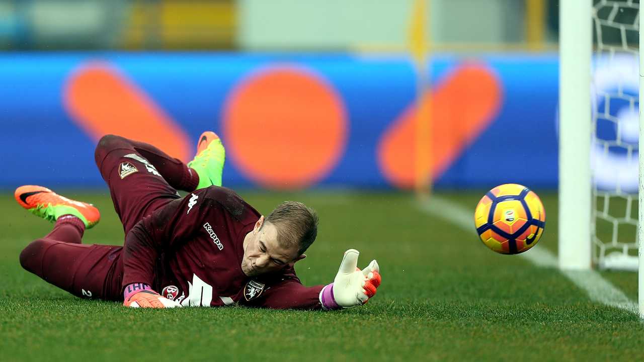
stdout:
MULTIPOLYGON (((101 138, 95 153, 100 174, 108 184, 126 234, 144 216, 180 197, 157 167, 144 157, 151 155, 141 151, 146 147, 156 150, 127 138, 106 136, 101 138)), ((160 160, 179 162, 155 157, 155 162, 160 160)), ((82 245, 74 230, 55 227, 48 236, 30 243, 20 256, 24 269, 81 298, 122 301, 123 248, 82 245)))

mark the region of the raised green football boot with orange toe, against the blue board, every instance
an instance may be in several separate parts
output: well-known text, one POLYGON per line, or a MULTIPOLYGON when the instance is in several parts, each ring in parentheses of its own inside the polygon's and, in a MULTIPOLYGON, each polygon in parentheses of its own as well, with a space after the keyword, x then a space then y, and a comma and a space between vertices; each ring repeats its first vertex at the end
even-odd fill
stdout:
POLYGON ((188 162, 188 167, 199 175, 198 189, 208 186, 222 186, 223 164, 226 160, 226 150, 222 140, 213 131, 205 131, 197 142, 197 153, 188 162))

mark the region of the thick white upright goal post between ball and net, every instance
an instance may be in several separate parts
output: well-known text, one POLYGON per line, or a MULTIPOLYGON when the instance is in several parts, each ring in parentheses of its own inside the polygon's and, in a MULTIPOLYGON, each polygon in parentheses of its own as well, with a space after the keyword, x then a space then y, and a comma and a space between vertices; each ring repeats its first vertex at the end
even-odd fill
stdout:
POLYGON ((590 269, 592 0, 559 3, 559 266, 590 269), (586 90, 586 91, 584 91, 586 90))

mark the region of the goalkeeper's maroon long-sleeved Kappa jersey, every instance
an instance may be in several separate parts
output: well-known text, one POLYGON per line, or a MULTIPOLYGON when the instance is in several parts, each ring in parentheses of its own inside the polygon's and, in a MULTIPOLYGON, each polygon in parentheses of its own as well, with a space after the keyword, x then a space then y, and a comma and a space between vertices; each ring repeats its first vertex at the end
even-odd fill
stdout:
POLYGON ((303 286, 292 267, 253 278, 243 273, 243 240, 260 216, 225 187, 169 202, 126 236, 122 286, 147 283, 184 306, 321 308, 323 286, 303 286))

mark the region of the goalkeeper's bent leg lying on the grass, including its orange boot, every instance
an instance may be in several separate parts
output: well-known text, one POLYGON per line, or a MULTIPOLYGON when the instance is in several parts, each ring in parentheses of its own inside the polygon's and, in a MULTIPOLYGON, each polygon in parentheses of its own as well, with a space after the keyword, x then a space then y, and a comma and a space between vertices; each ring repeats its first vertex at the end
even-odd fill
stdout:
POLYGON ((21 252, 24 269, 75 296, 121 298, 122 248, 81 244, 85 228, 99 222, 95 207, 39 186, 19 187, 15 199, 33 214, 56 222, 51 233, 21 252))

